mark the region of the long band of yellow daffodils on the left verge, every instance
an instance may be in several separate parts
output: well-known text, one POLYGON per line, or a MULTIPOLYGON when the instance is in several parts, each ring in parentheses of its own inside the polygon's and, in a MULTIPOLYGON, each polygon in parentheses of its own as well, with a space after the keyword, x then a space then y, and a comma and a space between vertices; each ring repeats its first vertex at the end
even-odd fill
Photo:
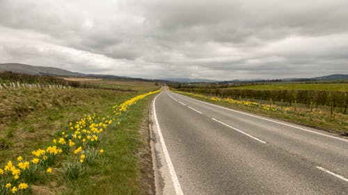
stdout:
MULTIPOLYGON (((115 105, 113 113, 119 117, 140 99, 159 91, 141 94, 115 105)), ((0 167, 0 194, 30 194, 30 184, 37 180, 39 174, 52 174, 58 169, 54 167, 58 163, 58 155, 66 155, 65 159, 68 159, 62 163, 65 177, 68 180, 79 178, 84 164, 93 164, 98 155, 105 152, 104 149, 98 149, 101 134, 112 124, 119 125, 120 122, 109 116, 84 115, 78 121, 70 122, 68 130, 61 131, 50 146, 32 151, 32 158, 18 156, 15 162, 9 160, 5 167, 0 167)))

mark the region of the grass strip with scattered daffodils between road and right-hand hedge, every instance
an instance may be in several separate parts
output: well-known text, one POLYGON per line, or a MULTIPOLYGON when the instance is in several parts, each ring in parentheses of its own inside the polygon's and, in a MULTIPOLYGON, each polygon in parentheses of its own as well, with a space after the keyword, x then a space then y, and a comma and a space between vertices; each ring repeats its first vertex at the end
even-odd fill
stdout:
MULTIPOLYGON (((175 91, 177 92, 177 91, 175 91)), ((331 115, 330 110, 316 110, 315 108, 280 106, 271 104, 261 104, 253 101, 239 101, 230 98, 219 98, 216 96, 205 96, 189 92, 177 92, 195 99, 223 105, 236 110, 255 113, 265 117, 290 121, 295 124, 310 126, 337 133, 348 135, 348 115, 335 113, 331 115)))

